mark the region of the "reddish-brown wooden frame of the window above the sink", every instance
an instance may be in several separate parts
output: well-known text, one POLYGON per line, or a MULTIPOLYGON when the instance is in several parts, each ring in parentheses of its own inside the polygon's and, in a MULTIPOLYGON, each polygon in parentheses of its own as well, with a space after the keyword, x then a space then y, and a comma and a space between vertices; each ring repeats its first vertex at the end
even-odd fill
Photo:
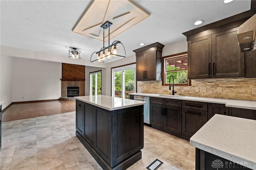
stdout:
MULTIPOLYGON (((166 58, 170 58, 170 57, 178 58, 178 57, 182 57, 184 55, 188 56, 188 51, 162 57, 162 85, 164 85, 164 86, 172 85, 172 83, 170 84, 170 83, 165 82, 165 80, 166 80, 165 79, 166 78, 166 71, 165 71, 166 70, 166 62, 165 62, 166 58)), ((184 70, 180 70, 180 71, 185 71, 185 70, 188 71, 188 69, 184 69, 184 70)), ((188 86, 188 85, 190 85, 190 79, 188 79, 188 83, 186 83, 186 84, 185 83, 174 83, 174 85, 188 86)))

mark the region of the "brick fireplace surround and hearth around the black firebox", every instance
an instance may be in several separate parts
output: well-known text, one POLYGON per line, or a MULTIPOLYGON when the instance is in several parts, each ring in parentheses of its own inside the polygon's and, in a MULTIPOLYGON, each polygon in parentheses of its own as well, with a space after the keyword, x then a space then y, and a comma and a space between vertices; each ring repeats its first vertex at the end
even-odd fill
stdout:
POLYGON ((84 96, 84 81, 61 80, 60 100, 75 100, 73 97, 67 97, 68 87, 79 87, 79 96, 84 96))

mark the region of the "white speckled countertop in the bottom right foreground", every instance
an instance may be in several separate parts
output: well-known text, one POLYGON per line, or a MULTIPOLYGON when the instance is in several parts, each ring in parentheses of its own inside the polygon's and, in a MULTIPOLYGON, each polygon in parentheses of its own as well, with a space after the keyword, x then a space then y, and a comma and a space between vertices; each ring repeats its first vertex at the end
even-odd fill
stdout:
POLYGON ((255 120, 216 114, 190 138, 190 144, 256 170, 255 120))

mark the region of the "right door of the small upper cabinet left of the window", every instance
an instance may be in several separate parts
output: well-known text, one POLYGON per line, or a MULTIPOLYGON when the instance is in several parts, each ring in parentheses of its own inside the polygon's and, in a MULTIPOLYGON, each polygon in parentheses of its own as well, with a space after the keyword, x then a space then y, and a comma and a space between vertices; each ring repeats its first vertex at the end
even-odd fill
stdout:
POLYGON ((156 51, 151 51, 145 54, 146 73, 145 80, 156 80, 156 51))

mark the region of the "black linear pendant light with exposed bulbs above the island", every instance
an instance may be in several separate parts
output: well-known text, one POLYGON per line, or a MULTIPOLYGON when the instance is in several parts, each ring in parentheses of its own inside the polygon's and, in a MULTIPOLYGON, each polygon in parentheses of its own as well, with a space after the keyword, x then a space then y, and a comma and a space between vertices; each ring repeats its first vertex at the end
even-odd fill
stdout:
POLYGON ((121 59, 123 57, 126 57, 126 52, 124 49, 124 45, 120 41, 114 41, 110 45, 110 26, 112 25, 111 22, 105 22, 101 28, 103 28, 103 47, 98 52, 94 52, 91 55, 90 61, 92 63, 108 63, 110 61, 114 61, 117 59, 121 59), (104 45, 104 38, 105 38, 105 29, 108 28, 108 47, 105 47, 104 45), (119 47, 118 47, 119 46, 119 47), (122 54, 122 55, 120 55, 122 54))

